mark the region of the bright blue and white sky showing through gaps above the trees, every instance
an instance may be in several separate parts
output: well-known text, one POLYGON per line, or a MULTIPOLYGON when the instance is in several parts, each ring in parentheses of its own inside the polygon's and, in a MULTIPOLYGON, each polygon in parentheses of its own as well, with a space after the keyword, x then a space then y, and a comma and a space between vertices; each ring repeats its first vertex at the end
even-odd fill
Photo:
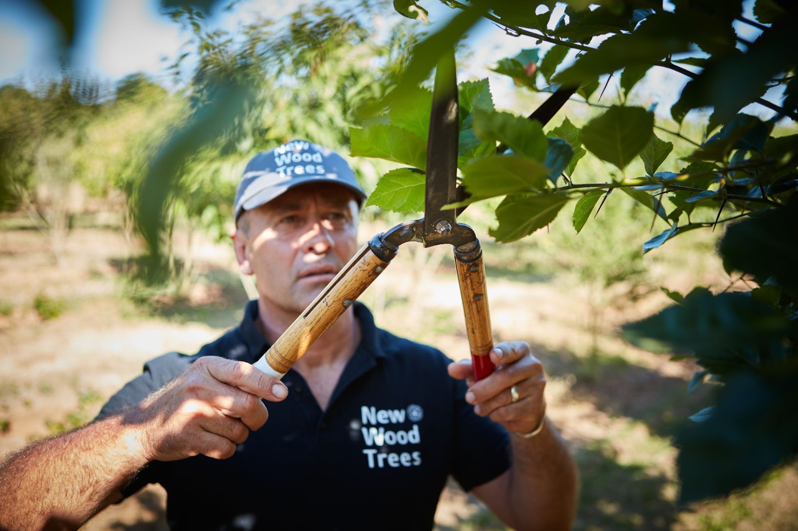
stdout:
MULTIPOLYGON (((217 2, 219 6, 225 3, 217 2)), ((217 9, 209 22, 216 28, 235 30, 239 23, 254 20, 256 14, 279 18, 294 11, 301 3, 305 2, 239 0, 232 10, 217 9)), ((429 10, 433 22, 425 27, 427 30, 434 30, 456 14, 456 10, 438 0, 421 0, 420 3, 429 10)), ((748 3, 747 10, 750 10, 751 2, 748 3)), ((58 58, 53 54, 57 49, 58 29, 37 10, 37 4, 26 0, 0 0, 0 85, 21 80, 30 83, 59 71, 58 58)), ((78 0, 77 5, 83 28, 77 34, 74 46, 75 69, 112 83, 136 72, 146 73, 164 86, 173 83, 165 67, 180 56, 189 35, 160 13, 158 0, 78 0)), ((389 21, 401 19, 395 13, 386 17, 389 21)), ((555 14, 552 20, 558 18, 555 14)), ((502 57, 516 55, 520 49, 535 47, 535 41, 529 37, 508 36, 492 23, 481 21, 470 32, 467 44, 470 44, 469 66, 458 76, 461 79, 488 77, 497 107, 511 107, 519 91, 513 87, 512 81, 492 73, 489 67, 502 57)), ((546 43, 540 45, 541 49, 546 47, 546 43)), ((658 112, 666 114, 674 103, 678 88, 685 81, 679 74, 666 69, 651 69, 644 86, 638 86, 636 90, 645 93, 648 99, 658 101, 658 112)), ((610 84, 607 90, 608 96, 615 96, 616 85, 610 84)))

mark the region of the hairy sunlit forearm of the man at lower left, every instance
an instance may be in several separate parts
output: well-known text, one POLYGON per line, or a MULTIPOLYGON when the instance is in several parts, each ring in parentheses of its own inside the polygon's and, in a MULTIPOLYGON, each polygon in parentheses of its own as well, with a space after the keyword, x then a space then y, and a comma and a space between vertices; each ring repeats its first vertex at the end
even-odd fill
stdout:
POLYGON ((0 466, 0 529, 77 528, 146 462, 121 415, 29 446, 0 466))

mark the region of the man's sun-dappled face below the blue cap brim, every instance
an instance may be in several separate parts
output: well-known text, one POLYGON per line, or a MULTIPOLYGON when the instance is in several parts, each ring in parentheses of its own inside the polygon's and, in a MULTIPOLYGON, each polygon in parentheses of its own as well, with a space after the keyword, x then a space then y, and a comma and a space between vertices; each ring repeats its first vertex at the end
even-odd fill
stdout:
POLYGON ((234 236, 264 304, 301 313, 358 250, 358 206, 337 184, 308 184, 243 214, 234 236), (248 233, 248 234, 247 234, 248 233))

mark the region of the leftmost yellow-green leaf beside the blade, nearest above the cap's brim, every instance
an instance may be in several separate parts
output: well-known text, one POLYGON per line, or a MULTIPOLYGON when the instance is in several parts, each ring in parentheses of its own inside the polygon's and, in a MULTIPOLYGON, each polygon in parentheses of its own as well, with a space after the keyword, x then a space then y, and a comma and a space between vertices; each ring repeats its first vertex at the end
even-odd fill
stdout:
POLYGON ((394 160, 425 170, 427 143, 417 135, 393 125, 350 128, 351 155, 394 160))

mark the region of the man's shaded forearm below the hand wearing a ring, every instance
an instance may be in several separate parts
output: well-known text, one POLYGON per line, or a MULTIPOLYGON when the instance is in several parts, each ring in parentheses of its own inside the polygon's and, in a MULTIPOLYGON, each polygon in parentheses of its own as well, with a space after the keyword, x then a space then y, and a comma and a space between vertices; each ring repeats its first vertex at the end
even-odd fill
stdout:
POLYGON ((571 529, 579 490, 576 466, 555 427, 538 435, 511 435, 509 513, 516 529, 571 529))

